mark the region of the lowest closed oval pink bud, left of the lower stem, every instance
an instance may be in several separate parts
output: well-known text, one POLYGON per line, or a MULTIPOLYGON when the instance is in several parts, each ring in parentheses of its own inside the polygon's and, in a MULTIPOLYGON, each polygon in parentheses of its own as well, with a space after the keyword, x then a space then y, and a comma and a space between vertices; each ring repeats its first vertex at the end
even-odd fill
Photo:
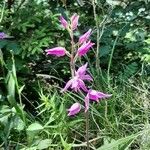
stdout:
POLYGON ((79 103, 74 103, 69 109, 68 109, 68 116, 74 116, 77 113, 79 113, 81 110, 81 105, 79 103))

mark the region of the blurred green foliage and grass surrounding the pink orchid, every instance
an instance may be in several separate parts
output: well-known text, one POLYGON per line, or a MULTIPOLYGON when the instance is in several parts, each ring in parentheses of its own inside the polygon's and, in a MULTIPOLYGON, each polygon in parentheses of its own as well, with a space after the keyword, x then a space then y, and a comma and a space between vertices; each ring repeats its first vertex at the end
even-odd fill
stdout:
POLYGON ((66 115, 71 101, 83 98, 59 93, 70 76, 68 58, 44 52, 69 50, 59 16, 77 13, 75 40, 91 28, 96 43, 82 59, 89 62, 92 87, 113 94, 91 105, 91 149, 149 150, 149 10, 149 0, 1 0, 0 32, 10 38, 0 40, 0 147, 85 148, 84 115, 66 115))

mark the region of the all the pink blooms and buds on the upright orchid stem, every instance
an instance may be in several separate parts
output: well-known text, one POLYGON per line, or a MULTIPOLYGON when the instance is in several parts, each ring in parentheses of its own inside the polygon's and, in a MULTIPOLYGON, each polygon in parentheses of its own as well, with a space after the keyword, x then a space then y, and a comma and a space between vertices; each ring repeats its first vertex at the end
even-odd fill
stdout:
MULTIPOLYGON (((77 14, 74 14, 70 18, 70 22, 67 22, 64 17, 60 17, 60 22, 61 25, 67 29, 68 31, 74 31, 78 27, 78 20, 79 16, 77 14)), ((75 57, 78 58, 83 55, 85 55, 90 48, 92 48, 94 43, 89 40, 89 37, 91 35, 92 30, 89 29, 86 33, 84 33, 82 36, 79 37, 77 50, 75 51, 75 57)), ((64 47, 55 47, 51 49, 46 50, 48 55, 55 55, 55 56, 71 56, 69 51, 67 51, 64 47), (69 54, 69 55, 68 55, 69 54)), ((85 112, 89 109, 89 101, 96 101, 98 102, 102 98, 108 98, 111 95, 110 94, 104 94, 102 92, 93 90, 93 89, 88 89, 84 83, 84 81, 92 81, 92 77, 87 74, 87 63, 81 67, 78 68, 78 70, 74 70, 74 76, 66 83, 65 87, 61 90, 61 92, 67 91, 69 88, 74 90, 75 92, 79 92, 80 90, 84 91, 86 93, 84 102, 85 102, 85 112)), ((81 110, 81 104, 76 102, 74 103, 69 109, 68 109, 68 116, 73 116, 79 113, 81 110)))

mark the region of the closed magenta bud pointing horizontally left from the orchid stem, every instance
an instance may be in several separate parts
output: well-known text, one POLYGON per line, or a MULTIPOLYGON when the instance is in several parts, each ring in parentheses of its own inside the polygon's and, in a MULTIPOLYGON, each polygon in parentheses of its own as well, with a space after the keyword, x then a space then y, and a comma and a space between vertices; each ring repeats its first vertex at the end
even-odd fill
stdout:
POLYGON ((66 54, 66 49, 63 47, 55 47, 51 49, 45 50, 47 52, 47 55, 56 55, 58 57, 64 56, 66 54))

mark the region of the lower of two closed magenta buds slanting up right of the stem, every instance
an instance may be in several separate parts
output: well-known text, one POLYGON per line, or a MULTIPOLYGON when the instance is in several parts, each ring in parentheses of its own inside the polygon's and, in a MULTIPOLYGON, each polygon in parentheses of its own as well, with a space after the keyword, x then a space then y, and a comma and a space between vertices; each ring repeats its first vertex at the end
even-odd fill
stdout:
POLYGON ((87 43, 83 43, 81 47, 79 47, 77 54, 79 56, 85 55, 93 45, 95 45, 95 43, 92 43, 91 41, 88 41, 87 43))

